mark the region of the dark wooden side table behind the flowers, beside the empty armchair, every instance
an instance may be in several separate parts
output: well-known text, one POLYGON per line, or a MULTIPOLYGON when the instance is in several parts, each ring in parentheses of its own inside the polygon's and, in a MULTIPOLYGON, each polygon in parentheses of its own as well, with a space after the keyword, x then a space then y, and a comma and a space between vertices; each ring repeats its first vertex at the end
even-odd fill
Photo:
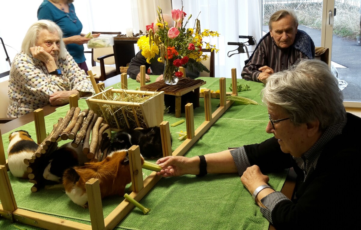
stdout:
POLYGON ((114 59, 117 74, 121 74, 119 67, 126 66, 135 57, 134 44, 139 37, 114 37, 114 59))

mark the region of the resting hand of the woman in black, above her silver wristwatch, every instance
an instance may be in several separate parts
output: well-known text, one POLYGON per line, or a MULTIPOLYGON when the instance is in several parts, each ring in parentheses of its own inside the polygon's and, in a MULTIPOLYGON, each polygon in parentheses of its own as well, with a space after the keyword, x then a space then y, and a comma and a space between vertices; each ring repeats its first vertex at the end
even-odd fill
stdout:
POLYGON ((241 181, 247 190, 252 194, 258 186, 268 183, 270 178, 262 174, 260 167, 252 165, 244 171, 241 181))

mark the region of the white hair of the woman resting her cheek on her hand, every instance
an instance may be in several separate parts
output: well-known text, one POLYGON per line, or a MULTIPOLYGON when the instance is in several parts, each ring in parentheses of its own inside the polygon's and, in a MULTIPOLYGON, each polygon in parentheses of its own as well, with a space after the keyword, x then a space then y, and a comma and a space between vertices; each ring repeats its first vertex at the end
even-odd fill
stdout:
POLYGON ((64 41, 62 39, 63 32, 61 31, 61 28, 58 25, 56 25, 55 22, 52 22, 50 20, 39 20, 30 26, 29 30, 27 30, 25 37, 22 41, 21 51, 30 55, 31 54, 30 48, 35 47, 38 44, 38 36, 40 31, 42 30, 48 30, 49 32, 52 33, 56 31, 58 33, 60 38, 60 48, 59 48, 58 57, 66 58, 67 51, 65 48, 64 41))

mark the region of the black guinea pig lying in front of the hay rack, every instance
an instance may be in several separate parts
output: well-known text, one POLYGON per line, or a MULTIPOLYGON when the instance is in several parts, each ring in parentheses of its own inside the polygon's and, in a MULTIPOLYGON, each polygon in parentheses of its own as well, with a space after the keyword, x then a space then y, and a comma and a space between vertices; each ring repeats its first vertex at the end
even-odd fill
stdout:
POLYGON ((140 153, 145 159, 159 158, 163 155, 160 127, 157 126, 119 131, 112 139, 109 152, 139 145, 140 153))

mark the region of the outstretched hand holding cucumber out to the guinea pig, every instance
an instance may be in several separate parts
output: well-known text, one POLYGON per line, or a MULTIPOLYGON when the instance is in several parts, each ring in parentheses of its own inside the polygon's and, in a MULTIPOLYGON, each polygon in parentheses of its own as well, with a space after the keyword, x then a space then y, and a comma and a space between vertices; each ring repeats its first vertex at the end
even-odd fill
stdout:
POLYGON ((190 167, 190 158, 184 156, 166 156, 157 160, 158 164, 162 169, 157 172, 158 176, 163 177, 174 177, 182 176, 187 173, 187 169, 190 167))

